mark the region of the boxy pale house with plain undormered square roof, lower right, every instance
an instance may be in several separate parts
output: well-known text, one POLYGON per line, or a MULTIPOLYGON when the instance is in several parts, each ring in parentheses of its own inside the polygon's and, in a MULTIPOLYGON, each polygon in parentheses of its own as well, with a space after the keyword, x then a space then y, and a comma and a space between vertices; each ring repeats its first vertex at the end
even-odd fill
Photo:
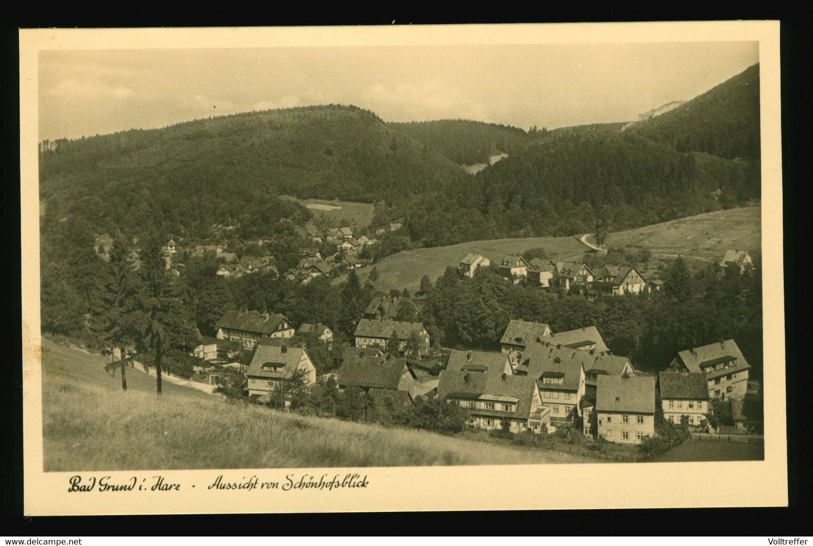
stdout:
POLYGON ((608 442, 640 444, 654 436, 654 376, 599 375, 595 413, 598 436, 608 442))

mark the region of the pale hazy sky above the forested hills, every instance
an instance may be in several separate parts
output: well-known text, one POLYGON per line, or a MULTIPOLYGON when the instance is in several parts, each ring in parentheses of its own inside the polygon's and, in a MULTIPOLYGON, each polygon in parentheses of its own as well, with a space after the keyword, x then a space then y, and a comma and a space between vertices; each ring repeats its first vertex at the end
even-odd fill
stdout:
POLYGON ((46 50, 39 140, 329 103, 385 121, 632 121, 758 62, 756 41, 46 50))

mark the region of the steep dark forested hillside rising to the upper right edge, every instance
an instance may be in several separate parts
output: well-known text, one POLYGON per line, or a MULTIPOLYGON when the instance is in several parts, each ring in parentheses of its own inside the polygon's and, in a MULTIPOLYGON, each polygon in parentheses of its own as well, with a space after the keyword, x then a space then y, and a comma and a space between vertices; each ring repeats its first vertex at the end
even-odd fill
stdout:
POLYGON ((759 161, 759 64, 672 111, 632 124, 626 131, 680 152, 759 161))

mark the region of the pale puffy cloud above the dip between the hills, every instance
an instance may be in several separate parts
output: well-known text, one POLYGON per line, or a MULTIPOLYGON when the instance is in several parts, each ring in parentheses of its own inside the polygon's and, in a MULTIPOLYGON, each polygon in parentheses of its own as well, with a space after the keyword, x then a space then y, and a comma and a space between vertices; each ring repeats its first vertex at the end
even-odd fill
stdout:
POLYGON ((422 85, 399 84, 393 89, 373 85, 363 91, 361 98, 364 106, 393 121, 438 118, 491 121, 480 102, 440 79, 422 85))

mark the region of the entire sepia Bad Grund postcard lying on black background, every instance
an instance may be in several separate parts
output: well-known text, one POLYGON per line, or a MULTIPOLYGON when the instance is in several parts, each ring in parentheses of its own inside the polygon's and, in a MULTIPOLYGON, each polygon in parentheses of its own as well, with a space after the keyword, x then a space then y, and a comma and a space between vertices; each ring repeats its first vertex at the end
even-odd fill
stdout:
POLYGON ((48 513, 402 467, 668 475, 682 505, 781 474, 778 24, 755 25, 21 31, 48 513))

